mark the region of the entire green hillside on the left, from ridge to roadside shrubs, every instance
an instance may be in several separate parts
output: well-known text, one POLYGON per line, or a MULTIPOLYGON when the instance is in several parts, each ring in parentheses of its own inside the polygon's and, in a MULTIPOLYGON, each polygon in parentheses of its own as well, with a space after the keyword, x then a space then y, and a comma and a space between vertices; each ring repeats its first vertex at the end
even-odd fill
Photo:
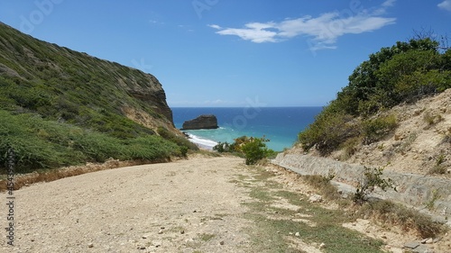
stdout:
POLYGON ((23 171, 106 158, 154 160, 193 148, 173 128, 164 90, 152 75, 3 23, 0 118, 2 169, 10 147, 23 171))

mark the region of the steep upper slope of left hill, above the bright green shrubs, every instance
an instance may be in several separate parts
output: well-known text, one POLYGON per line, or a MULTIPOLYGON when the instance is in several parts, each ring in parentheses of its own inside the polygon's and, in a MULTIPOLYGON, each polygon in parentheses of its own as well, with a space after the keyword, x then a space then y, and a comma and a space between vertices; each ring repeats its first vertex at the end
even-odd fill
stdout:
POLYGON ((175 130, 156 77, 39 41, 0 23, 0 110, 38 113, 97 131, 175 130))

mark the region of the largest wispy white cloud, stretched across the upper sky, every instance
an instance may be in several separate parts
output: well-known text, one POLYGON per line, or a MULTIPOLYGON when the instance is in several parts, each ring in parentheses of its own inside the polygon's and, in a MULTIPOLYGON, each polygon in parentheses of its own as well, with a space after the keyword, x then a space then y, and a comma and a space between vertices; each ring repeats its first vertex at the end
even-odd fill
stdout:
MULTIPOLYGON (((373 32, 395 23, 395 18, 380 16, 396 0, 387 0, 373 11, 364 10, 359 14, 344 15, 343 12, 321 14, 318 17, 304 16, 286 19, 280 23, 246 23, 244 28, 223 28, 210 24, 220 35, 235 35, 244 41, 279 42, 297 36, 307 36, 311 40, 311 50, 336 49, 336 40, 345 34, 373 32)), ((451 0, 449 0, 451 1, 451 0)))

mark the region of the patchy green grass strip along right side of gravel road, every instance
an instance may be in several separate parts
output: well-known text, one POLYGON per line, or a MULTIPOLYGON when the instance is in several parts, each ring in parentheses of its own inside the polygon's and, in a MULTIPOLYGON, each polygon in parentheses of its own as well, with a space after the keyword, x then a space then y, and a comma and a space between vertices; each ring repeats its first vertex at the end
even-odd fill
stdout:
MULTIPOLYGON (((245 213, 257 229, 249 230, 253 239, 253 248, 264 252, 301 252, 292 248, 292 241, 299 232, 300 239, 308 243, 325 243, 327 252, 382 252, 382 241, 370 239, 354 230, 342 227, 343 222, 351 221, 340 210, 327 210, 317 203, 309 203, 306 196, 296 192, 281 190, 281 185, 273 185, 267 172, 253 170, 254 178, 260 178, 260 184, 252 185, 251 196, 254 202, 244 203, 251 212, 245 213), (262 173, 262 174, 261 174, 262 173), (261 186, 263 183, 264 186, 261 186), (275 187, 274 187, 275 186, 275 187), (299 211, 272 206, 279 200, 299 206, 299 211), (302 221, 293 221, 299 213, 309 214, 306 218, 317 225, 312 227, 302 221), (271 214, 271 218, 268 215, 271 214), (278 219, 277 217, 280 217, 278 219)), ((313 181, 327 182, 330 179, 316 178, 313 181)), ((324 183, 324 184, 326 184, 324 183)), ((323 185, 323 183, 318 183, 323 185)), ((336 189, 334 189, 336 192, 336 189)))

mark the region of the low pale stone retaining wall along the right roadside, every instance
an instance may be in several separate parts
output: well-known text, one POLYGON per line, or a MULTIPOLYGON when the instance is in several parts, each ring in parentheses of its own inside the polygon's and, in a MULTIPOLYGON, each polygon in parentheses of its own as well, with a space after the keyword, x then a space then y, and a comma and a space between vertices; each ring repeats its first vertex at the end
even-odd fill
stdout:
MULTIPOLYGON (((347 185, 357 185, 364 172, 364 166, 299 154, 280 153, 277 158, 272 160, 272 163, 301 175, 327 176, 333 173, 336 175, 334 181, 347 185)), ((384 171, 383 176, 393 180, 398 192, 378 191, 377 194, 382 198, 404 203, 421 212, 428 212, 437 220, 447 221, 448 224, 451 224, 449 221, 451 220, 451 180, 437 176, 400 174, 392 171, 384 171), (434 209, 429 211, 426 205, 431 202, 435 192, 440 197, 434 202, 434 209)))

